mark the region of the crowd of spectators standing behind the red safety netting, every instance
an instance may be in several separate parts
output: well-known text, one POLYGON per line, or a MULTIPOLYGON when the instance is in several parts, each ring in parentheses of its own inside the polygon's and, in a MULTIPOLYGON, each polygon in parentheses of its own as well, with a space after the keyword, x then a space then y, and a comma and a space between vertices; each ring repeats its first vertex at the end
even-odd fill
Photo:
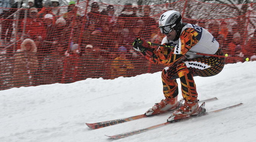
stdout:
MULTIPOLYGON (((59 6, 58 0, 46 0, 44 4, 42 0, 28 0, 28 13, 19 9, 18 42, 15 46, 2 45, 8 57, 15 60, 13 84, 68 83, 89 77, 114 79, 141 74, 141 68, 148 68, 144 66, 148 64, 132 49, 133 39, 140 36, 161 43, 164 36, 157 28, 158 17, 151 17, 150 6, 138 8, 127 3, 117 14, 113 5, 100 8, 93 2, 90 12, 84 15, 77 12, 79 7, 74 1, 67 7, 59 6)), ((10 7, 18 8, 18 3, 10 7)), ((14 33, 11 20, 15 12, 14 9, 2 11, 1 19, 6 20, 1 22, 1 43, 11 44, 14 33)), ((240 32, 243 31, 237 24, 231 30, 225 21, 201 26, 216 37, 225 53, 255 60, 255 32, 248 41, 242 41, 240 32)))

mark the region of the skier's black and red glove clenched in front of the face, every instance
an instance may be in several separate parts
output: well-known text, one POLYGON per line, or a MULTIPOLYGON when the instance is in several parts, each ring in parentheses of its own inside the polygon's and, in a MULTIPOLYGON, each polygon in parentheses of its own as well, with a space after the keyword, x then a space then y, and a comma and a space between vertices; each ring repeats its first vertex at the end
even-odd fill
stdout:
POLYGON ((144 38, 136 38, 133 41, 133 49, 139 52, 145 52, 149 49, 149 43, 144 38))

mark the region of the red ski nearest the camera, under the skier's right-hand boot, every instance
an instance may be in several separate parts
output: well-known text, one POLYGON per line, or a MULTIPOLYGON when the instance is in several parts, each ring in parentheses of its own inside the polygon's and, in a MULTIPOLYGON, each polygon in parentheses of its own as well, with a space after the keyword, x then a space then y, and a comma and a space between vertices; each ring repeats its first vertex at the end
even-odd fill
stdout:
POLYGON ((145 131, 149 131, 149 130, 152 130, 152 129, 155 129, 155 128, 159 128, 161 126, 165 126, 165 125, 168 125, 168 124, 172 124, 172 123, 175 123, 175 122, 179 122, 179 121, 184 121, 184 120, 189 120, 191 118, 195 118, 195 117, 201 117, 201 116, 204 116, 204 115, 208 115, 208 114, 212 114, 212 113, 215 113, 215 112, 220 112, 222 110, 226 110, 226 109, 231 109, 233 107, 237 107, 237 106, 241 106, 243 103, 240 103, 240 104, 236 104, 236 105, 233 105, 233 106, 228 106, 228 107, 224 107, 222 109, 218 109, 218 110, 213 110, 211 112, 204 112, 200 115, 195 115, 195 116, 188 116, 188 117, 185 117, 185 118, 182 118, 180 120, 171 120, 171 121, 167 121, 165 123, 161 123, 161 124, 158 124, 158 125, 154 125, 154 126, 150 126, 148 128, 144 128, 144 129, 138 129, 138 130, 135 130, 135 131, 130 131, 128 133, 123 133, 123 134, 117 134, 117 135, 114 135, 114 136, 107 136, 111 139, 121 139, 123 137, 128 137, 128 136, 132 136, 134 134, 139 134, 139 133, 143 133, 145 131))

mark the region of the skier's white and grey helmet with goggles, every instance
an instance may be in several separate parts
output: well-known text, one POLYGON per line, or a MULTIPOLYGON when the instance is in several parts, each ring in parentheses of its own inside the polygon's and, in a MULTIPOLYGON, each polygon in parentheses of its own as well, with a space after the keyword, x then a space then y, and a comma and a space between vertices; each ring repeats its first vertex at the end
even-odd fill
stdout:
POLYGON ((159 18, 159 28, 161 33, 168 34, 173 28, 181 24, 181 14, 178 11, 170 10, 163 13, 159 18))

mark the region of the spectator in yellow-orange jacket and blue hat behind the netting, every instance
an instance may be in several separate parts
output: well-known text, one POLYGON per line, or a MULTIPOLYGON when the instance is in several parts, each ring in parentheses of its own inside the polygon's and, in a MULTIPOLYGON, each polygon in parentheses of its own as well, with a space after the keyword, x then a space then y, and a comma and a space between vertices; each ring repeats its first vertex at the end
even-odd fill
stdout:
POLYGON ((128 77, 130 71, 134 69, 132 63, 126 59, 127 49, 124 46, 118 48, 118 57, 116 57, 111 63, 111 77, 115 79, 119 76, 128 77))

